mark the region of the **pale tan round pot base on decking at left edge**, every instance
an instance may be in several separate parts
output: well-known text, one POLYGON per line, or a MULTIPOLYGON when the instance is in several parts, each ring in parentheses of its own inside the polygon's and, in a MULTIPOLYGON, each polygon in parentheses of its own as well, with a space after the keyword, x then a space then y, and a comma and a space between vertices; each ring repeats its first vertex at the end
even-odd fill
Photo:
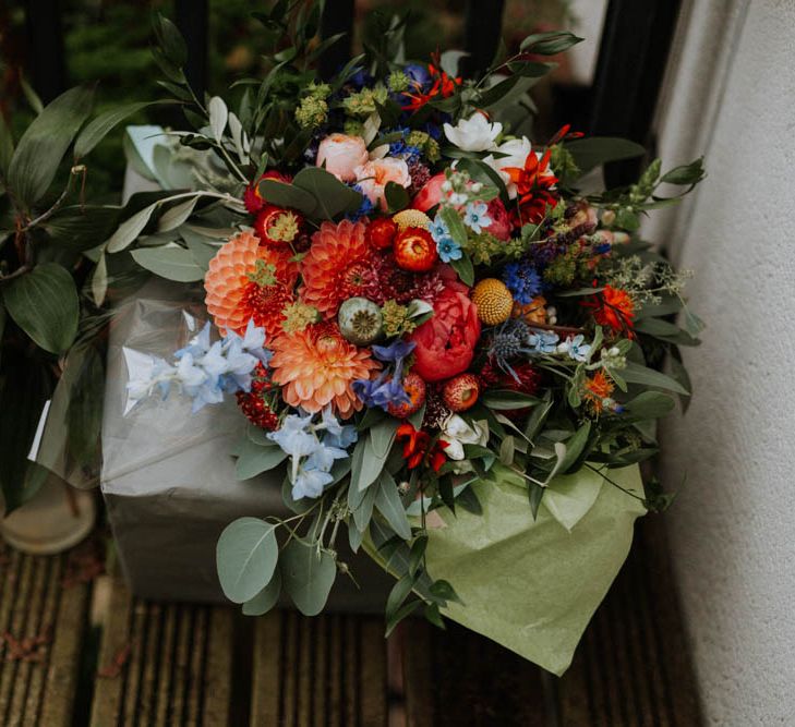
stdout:
POLYGON ((74 489, 52 475, 29 502, 0 519, 0 536, 23 553, 53 555, 84 540, 96 517, 93 493, 74 489))

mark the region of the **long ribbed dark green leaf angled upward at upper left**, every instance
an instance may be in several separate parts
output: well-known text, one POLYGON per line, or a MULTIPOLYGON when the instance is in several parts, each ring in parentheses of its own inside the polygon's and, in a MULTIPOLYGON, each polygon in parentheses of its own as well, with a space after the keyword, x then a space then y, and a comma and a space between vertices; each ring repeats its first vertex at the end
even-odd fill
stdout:
POLYGON ((61 94, 31 123, 9 166, 8 186, 25 207, 52 184, 63 155, 92 109, 93 92, 77 87, 61 94))

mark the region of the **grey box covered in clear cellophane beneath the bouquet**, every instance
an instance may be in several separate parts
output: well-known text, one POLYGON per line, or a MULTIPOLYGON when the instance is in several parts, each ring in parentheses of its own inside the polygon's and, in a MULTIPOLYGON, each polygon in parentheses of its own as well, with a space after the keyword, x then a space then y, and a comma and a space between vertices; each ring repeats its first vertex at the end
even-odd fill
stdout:
MULTIPOLYGON (((155 395, 127 415, 123 349, 171 360, 192 335, 172 286, 149 284, 117 311, 111 327, 103 422, 101 490, 118 555, 132 591, 160 601, 222 602, 215 546, 243 516, 290 514, 281 470, 240 482, 229 455, 245 420, 233 399, 191 413, 173 391, 155 395)), ((184 300, 184 299, 183 299, 184 300)), ((201 324, 200 324, 201 325, 201 324)), ((346 538, 338 538, 338 543, 346 538)), ((364 553, 340 546, 360 584, 339 575, 329 610, 383 611, 392 579, 364 553)))

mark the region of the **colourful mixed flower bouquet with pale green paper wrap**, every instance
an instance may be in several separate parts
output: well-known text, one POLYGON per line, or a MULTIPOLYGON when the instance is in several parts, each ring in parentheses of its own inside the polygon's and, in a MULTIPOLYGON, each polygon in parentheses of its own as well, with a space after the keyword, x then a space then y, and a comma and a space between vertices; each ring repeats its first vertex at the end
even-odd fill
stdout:
POLYGON ((190 191, 137 211, 101 254, 135 243, 143 267, 203 279, 214 325, 141 366, 130 401, 233 396, 249 421, 238 475, 284 473, 294 514, 242 518, 218 542, 244 613, 282 593, 320 613, 336 578, 356 579, 344 538, 397 579, 387 633, 449 616, 559 673, 633 521, 668 499, 638 463, 689 395, 678 347, 701 323, 638 228, 676 198, 658 187, 688 191, 701 162, 586 192, 642 147, 569 128, 532 144, 528 89, 568 33, 461 78, 460 54, 399 60, 388 23, 321 82, 313 31, 280 13, 263 22, 291 45, 244 82, 237 113, 193 96, 181 39, 158 23, 164 85, 195 125, 172 132, 166 166, 192 170, 190 191))

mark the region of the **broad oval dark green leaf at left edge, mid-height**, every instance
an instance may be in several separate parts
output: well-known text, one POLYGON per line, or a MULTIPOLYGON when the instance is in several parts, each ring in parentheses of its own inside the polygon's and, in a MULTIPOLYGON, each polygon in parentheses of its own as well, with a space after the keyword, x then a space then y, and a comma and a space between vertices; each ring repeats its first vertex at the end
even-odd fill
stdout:
POLYGON ((9 315, 39 347, 62 353, 77 335, 80 302, 74 279, 57 263, 44 263, 3 289, 9 315))

